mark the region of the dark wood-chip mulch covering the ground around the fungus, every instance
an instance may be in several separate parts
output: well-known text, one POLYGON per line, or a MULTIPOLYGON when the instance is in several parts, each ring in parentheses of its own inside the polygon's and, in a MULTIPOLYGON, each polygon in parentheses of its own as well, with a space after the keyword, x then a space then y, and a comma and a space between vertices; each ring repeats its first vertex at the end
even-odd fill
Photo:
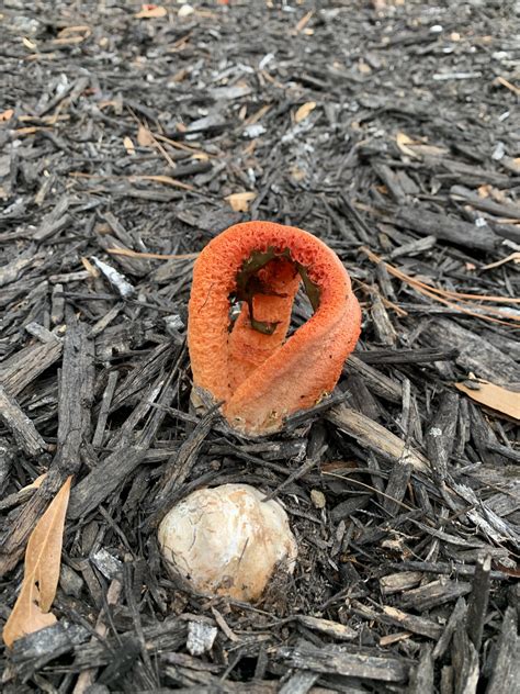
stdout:
POLYGON ((75 475, 58 622, 2 691, 512 694, 519 3, 140 10, 0 9, 2 624, 75 475), (326 240, 363 310, 337 391, 259 440, 190 411, 185 347, 196 253, 250 219, 326 240), (225 482, 297 538, 256 605, 160 560, 155 500, 225 482))

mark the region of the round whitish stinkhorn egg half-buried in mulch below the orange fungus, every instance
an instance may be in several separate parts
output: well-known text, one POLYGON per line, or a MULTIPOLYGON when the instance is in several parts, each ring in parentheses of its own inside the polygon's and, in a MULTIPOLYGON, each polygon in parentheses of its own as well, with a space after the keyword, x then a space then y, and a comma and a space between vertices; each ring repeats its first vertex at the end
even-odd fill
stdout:
POLYGON ((285 511, 249 484, 193 492, 165 516, 159 545, 173 575, 201 593, 255 602, 275 570, 292 573, 297 546, 285 511))

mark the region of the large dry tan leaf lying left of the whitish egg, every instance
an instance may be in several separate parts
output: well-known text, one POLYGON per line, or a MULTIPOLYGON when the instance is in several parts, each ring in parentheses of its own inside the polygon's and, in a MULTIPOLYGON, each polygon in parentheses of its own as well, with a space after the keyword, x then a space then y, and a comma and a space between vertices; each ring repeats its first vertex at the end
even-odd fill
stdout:
POLYGON ((9 648, 22 636, 56 622, 49 609, 58 585, 71 479, 67 478, 29 538, 22 589, 2 633, 9 648))

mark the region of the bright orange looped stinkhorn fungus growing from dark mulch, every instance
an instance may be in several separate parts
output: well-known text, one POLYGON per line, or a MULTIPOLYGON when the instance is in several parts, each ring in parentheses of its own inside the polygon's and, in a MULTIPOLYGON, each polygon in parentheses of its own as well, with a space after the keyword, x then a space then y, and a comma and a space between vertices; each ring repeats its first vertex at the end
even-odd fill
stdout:
POLYGON ((193 269, 195 400, 223 402, 238 432, 274 432, 334 389, 360 324, 347 270, 321 240, 293 226, 236 224, 207 244, 193 269), (301 279, 315 313, 285 339, 301 279), (234 324, 233 300, 242 302, 234 324))

